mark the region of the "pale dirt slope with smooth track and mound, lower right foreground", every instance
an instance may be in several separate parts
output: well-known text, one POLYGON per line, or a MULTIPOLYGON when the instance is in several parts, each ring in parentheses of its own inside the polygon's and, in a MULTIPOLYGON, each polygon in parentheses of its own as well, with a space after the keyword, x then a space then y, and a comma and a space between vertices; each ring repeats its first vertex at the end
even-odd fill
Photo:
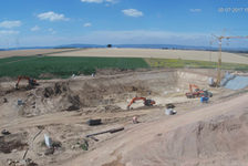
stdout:
POLYGON ((140 124, 64 165, 245 166, 248 94, 185 115, 140 124))

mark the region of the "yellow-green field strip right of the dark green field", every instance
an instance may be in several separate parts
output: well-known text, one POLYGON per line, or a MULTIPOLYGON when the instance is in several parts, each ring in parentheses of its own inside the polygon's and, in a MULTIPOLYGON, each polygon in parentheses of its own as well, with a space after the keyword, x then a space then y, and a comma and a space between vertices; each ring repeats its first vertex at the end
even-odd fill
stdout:
MULTIPOLYGON (((166 69, 216 69, 217 62, 208 61, 194 61, 194 60, 180 60, 180 59, 145 59, 152 68, 166 68, 166 69)), ((237 63, 223 63, 221 69, 224 70, 237 70, 248 71, 248 64, 237 63)))

